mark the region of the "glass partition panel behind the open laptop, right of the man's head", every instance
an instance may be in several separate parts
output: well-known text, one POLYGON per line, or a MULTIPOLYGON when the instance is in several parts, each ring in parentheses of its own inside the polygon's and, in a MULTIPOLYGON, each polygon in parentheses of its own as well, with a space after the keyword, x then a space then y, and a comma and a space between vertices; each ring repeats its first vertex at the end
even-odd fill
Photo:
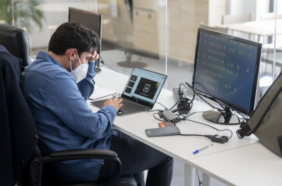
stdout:
POLYGON ((165 74, 165 10, 165 1, 97 0, 104 66, 128 75, 134 66, 165 74))

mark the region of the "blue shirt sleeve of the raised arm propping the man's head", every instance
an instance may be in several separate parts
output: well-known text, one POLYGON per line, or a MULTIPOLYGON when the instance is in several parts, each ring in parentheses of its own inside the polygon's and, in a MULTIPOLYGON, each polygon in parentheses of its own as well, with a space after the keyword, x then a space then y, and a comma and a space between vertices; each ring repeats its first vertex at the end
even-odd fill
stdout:
POLYGON ((78 90, 81 92, 84 100, 87 100, 94 91, 95 82, 93 78, 97 72, 96 63, 96 60, 94 62, 88 62, 88 71, 86 77, 77 83, 78 90))

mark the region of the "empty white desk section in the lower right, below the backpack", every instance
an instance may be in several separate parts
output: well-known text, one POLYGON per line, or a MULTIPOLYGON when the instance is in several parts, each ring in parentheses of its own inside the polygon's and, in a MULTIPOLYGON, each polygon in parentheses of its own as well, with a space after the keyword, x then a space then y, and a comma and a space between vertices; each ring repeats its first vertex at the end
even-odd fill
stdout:
POLYGON ((261 143, 189 161, 195 168, 229 186, 266 186, 282 183, 282 158, 261 143))

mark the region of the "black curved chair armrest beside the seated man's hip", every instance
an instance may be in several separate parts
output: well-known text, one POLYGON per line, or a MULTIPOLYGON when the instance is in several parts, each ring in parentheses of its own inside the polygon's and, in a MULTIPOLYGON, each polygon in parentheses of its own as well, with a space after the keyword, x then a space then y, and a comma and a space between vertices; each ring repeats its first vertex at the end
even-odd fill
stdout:
POLYGON ((42 165, 45 163, 78 160, 78 159, 108 159, 116 164, 116 171, 112 178, 107 180, 104 185, 113 185, 121 175, 122 165, 118 154, 107 149, 70 149, 51 152, 49 156, 34 157, 30 163, 34 186, 41 186, 42 165))

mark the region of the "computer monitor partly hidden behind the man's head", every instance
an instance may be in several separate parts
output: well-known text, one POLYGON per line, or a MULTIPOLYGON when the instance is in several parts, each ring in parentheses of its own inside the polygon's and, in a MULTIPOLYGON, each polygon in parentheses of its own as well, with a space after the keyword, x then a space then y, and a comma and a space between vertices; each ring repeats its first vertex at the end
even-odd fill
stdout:
MULTIPOLYGON (((98 46, 97 53, 101 56, 101 44, 102 44, 102 15, 81 10, 77 8, 69 7, 69 22, 79 22, 88 26, 94 30, 100 39, 100 45, 98 46)), ((97 60, 96 70, 100 72, 101 69, 101 57, 97 60)))

